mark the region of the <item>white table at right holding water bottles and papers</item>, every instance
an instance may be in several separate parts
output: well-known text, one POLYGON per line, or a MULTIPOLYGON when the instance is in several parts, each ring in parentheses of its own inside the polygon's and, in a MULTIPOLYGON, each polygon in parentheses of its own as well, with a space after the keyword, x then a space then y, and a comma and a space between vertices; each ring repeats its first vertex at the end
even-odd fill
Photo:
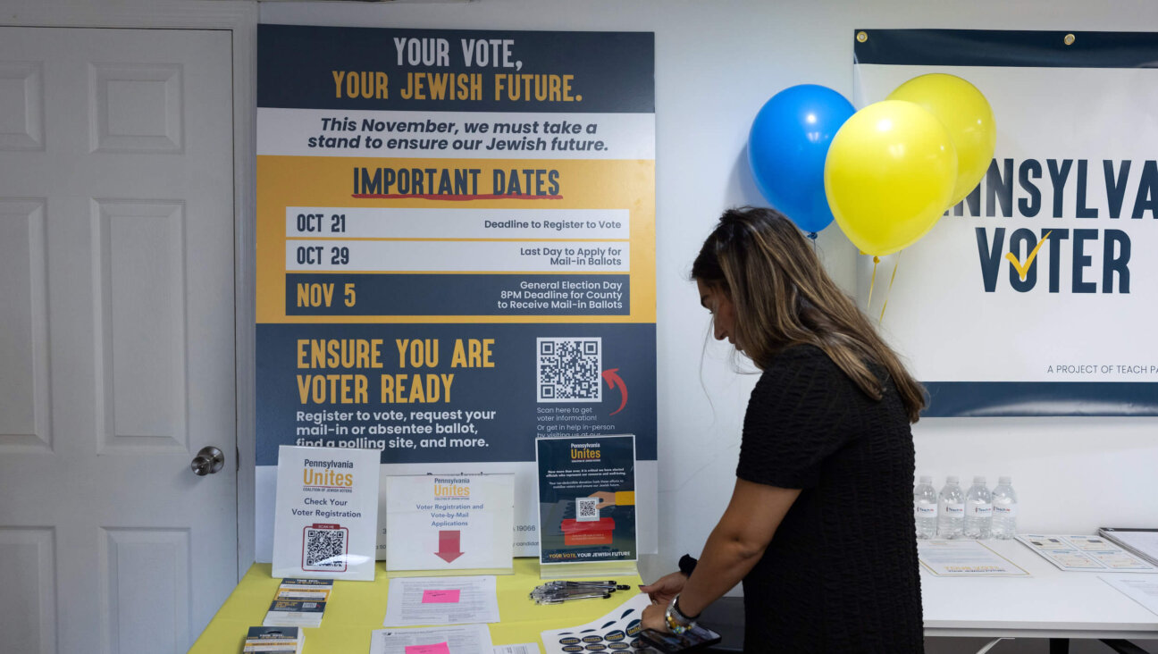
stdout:
MULTIPOLYGON (((950 578, 922 570, 925 635, 1158 639, 1158 615, 1113 588, 1107 572, 1063 572, 1017 541, 984 544, 1029 578, 950 578)), ((1064 652, 1065 641, 1050 652, 1064 652)))

